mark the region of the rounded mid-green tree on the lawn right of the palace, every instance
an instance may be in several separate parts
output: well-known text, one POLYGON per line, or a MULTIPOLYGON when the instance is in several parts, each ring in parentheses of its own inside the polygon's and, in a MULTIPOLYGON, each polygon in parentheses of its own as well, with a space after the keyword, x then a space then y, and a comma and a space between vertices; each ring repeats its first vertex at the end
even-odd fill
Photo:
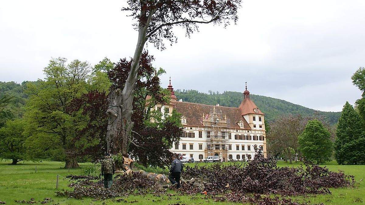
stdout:
POLYGON ((331 160, 331 134, 319 120, 308 121, 298 142, 299 150, 307 160, 317 164, 331 160))

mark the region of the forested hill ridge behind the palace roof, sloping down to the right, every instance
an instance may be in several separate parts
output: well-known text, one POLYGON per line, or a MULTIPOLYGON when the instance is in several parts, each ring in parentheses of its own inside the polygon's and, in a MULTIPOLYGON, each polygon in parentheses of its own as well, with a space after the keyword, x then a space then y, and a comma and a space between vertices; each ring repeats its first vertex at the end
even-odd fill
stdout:
MULTIPOLYGON (((176 97, 183 99, 185 102, 195 102, 207 105, 219 104, 226 107, 237 108, 242 102, 243 93, 226 91, 224 93, 210 92, 200 93, 196 90, 176 90, 176 97)), ((266 120, 272 121, 277 116, 285 114, 300 114, 303 116, 322 115, 328 123, 336 124, 341 112, 322 112, 314 109, 296 105, 291 102, 280 100, 272 97, 250 94, 251 100, 255 102, 258 108, 266 114, 266 120)))

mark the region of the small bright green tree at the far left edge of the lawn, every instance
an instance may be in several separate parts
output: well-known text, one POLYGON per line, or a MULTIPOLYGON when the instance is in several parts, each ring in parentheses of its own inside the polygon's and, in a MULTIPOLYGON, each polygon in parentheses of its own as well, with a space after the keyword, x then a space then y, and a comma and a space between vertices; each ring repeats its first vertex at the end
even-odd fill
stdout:
POLYGON ((8 120, 4 127, 0 128, 0 159, 11 159, 12 165, 25 159, 26 136, 23 135, 23 131, 22 119, 8 120))

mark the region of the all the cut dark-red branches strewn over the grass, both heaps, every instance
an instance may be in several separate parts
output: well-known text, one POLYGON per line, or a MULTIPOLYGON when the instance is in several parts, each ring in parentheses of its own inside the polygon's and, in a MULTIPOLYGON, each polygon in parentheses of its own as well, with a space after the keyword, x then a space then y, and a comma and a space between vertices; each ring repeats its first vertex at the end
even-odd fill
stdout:
MULTIPOLYGON (((306 204, 294 202, 288 198, 270 197, 270 194, 281 196, 298 196, 306 194, 330 194, 329 188, 351 187, 354 177, 342 171, 329 171, 327 167, 305 164, 296 168, 277 167, 272 158, 264 158, 255 148, 255 157, 248 163, 233 163, 211 166, 188 167, 182 176, 181 195, 205 194, 214 201, 244 202, 251 204, 306 204)), ((68 176, 82 183, 70 183, 73 190, 62 190, 57 196, 72 198, 92 197, 106 199, 127 197, 131 194, 161 196, 166 194, 165 177, 155 177, 154 173, 127 171, 117 174, 111 189, 104 189, 102 180, 89 176, 68 176)))

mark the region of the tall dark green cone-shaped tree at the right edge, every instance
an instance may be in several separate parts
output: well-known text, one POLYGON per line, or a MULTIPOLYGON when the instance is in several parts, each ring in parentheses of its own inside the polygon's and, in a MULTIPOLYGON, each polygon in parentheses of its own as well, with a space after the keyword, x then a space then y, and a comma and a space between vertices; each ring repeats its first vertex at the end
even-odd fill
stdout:
POLYGON ((360 116, 349 102, 343 106, 338 120, 335 158, 339 165, 365 164, 365 135, 360 116))

